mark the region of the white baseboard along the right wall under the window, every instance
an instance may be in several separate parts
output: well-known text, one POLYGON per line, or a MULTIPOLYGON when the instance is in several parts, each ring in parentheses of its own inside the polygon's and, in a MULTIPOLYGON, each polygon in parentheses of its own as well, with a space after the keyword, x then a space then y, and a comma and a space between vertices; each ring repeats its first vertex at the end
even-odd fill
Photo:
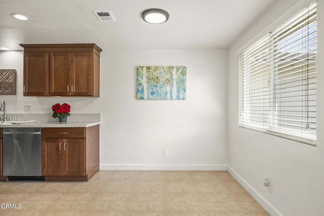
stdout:
POLYGON ((273 205, 271 205, 261 194, 259 194, 249 183, 247 183, 231 166, 227 166, 227 171, 235 178, 235 180, 244 187, 245 190, 272 216, 282 216, 273 205))

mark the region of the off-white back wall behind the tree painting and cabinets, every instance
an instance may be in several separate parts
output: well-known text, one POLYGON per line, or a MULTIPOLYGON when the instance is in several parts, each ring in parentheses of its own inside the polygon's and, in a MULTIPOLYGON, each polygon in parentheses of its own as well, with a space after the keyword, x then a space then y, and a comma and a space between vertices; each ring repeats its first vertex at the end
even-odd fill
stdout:
POLYGON ((103 50, 100 97, 24 97, 23 52, 0 52, 0 68, 17 70, 17 95, 0 96, 8 113, 101 113, 101 169, 227 168, 227 50, 103 50), (187 67, 186 100, 137 100, 140 65, 187 67), (163 151, 169 150, 169 157, 163 151))

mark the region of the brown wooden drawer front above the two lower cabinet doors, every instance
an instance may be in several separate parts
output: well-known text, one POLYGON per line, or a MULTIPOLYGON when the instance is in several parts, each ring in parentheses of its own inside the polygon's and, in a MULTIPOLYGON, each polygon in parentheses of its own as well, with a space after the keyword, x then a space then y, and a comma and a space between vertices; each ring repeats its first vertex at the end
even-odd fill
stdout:
POLYGON ((85 138, 86 128, 69 127, 69 128, 43 128, 43 138, 85 138))

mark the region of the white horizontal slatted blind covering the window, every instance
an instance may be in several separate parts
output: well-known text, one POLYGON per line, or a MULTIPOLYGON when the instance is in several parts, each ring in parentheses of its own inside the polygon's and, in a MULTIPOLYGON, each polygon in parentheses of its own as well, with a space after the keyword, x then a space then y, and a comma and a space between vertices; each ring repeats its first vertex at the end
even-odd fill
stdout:
POLYGON ((316 3, 239 54, 239 126, 316 146, 316 3))

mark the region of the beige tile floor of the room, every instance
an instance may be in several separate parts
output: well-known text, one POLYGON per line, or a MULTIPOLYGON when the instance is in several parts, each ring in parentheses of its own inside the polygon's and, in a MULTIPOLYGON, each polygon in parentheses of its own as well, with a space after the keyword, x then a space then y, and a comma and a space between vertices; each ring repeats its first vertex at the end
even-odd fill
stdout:
POLYGON ((269 214, 227 171, 99 171, 89 182, 0 182, 0 215, 269 214))

